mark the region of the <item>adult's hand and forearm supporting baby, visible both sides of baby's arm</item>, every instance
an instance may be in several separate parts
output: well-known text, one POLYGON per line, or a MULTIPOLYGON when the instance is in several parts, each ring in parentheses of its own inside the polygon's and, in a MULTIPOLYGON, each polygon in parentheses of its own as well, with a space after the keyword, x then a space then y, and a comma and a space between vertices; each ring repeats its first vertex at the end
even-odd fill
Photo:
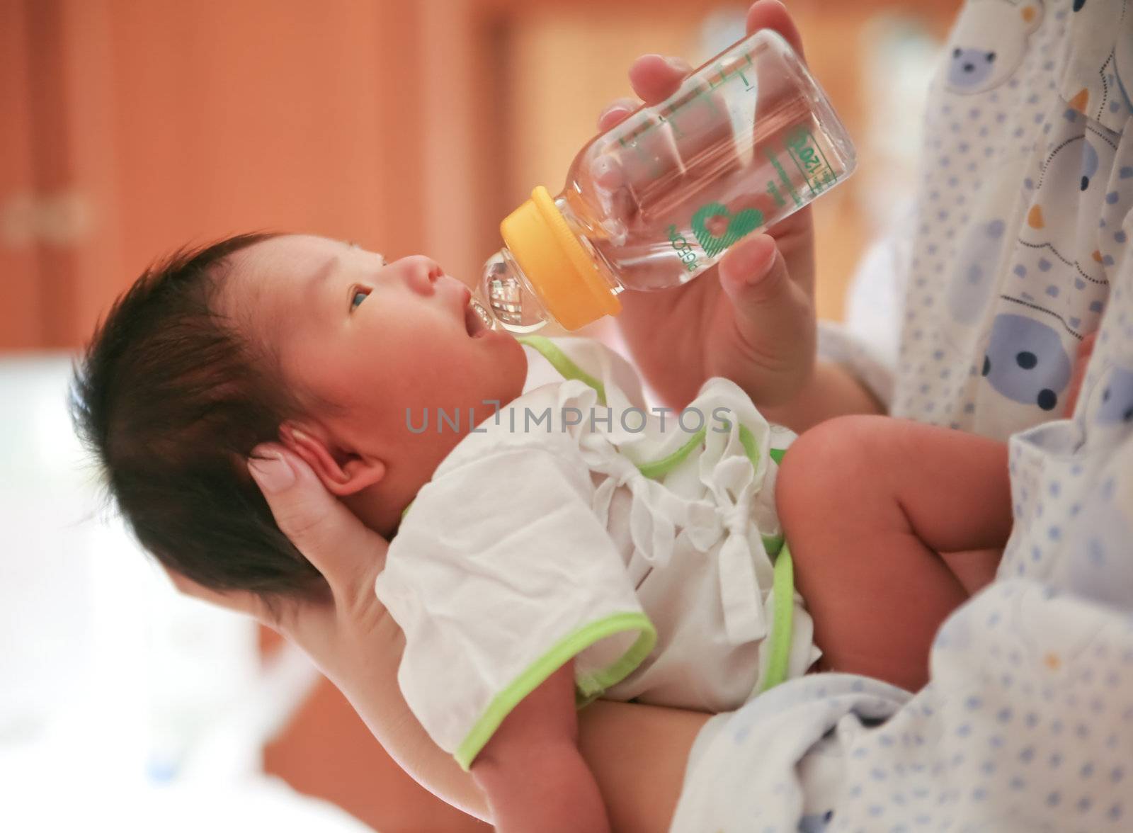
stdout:
MULTIPOLYGON (((466 813, 488 819, 471 776, 437 747, 398 688, 404 637, 374 594, 389 547, 279 445, 249 464, 280 529, 326 579, 318 600, 267 605, 250 593, 218 593, 170 573, 182 593, 255 617, 305 651, 366 722, 386 753, 418 783, 466 813)), ((579 747, 598 781, 613 828, 668 830, 692 742, 708 715, 597 700, 579 715, 579 747)))

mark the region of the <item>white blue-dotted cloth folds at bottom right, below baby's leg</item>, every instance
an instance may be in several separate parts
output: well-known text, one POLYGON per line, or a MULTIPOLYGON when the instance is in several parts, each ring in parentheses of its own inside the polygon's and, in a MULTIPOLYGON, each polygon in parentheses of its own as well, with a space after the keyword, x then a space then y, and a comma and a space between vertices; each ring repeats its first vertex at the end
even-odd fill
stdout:
POLYGON ((782 783, 769 762, 815 743, 808 772, 836 766, 844 788, 826 792, 804 775, 783 800, 830 811, 820 830, 832 833, 1125 830, 1133 621, 1053 585, 1002 579, 952 614, 931 662, 932 682, 904 704, 881 683, 819 674, 776 689, 758 721, 744 714, 758 700, 717 719, 750 731, 702 753, 685 793, 708 815, 674 830, 759 830, 751 819, 794 830, 783 801, 768 799, 774 788, 751 785, 782 783), (819 686, 826 696, 811 698, 819 686))

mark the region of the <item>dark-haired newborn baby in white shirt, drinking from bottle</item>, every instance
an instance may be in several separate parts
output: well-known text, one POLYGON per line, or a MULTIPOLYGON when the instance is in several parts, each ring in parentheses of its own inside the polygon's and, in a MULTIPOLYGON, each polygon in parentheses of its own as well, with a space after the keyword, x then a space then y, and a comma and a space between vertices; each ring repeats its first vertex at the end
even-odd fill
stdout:
POLYGON ((318 237, 179 253, 95 334, 76 423, 143 546, 206 587, 323 587, 248 476, 261 442, 392 537, 399 683, 502 830, 606 828, 576 747, 594 697, 735 708, 816 641, 824 670, 923 681, 997 560, 939 553, 1010 530, 1002 444, 884 417, 792 444, 719 379, 666 430, 615 354, 521 345, 469 299, 427 257, 318 237), (529 360, 565 381, 525 393, 529 360))

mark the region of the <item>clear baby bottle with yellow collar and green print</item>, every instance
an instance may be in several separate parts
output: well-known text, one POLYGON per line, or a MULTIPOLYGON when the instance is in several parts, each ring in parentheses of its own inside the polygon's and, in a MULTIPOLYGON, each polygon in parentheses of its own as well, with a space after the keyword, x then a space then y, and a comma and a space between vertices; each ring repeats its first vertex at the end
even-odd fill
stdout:
POLYGON ((807 205, 854 168, 826 94, 776 32, 740 41, 594 138, 566 187, 544 187, 500 230, 474 308, 493 328, 577 330, 623 289, 685 283, 736 240, 807 205))

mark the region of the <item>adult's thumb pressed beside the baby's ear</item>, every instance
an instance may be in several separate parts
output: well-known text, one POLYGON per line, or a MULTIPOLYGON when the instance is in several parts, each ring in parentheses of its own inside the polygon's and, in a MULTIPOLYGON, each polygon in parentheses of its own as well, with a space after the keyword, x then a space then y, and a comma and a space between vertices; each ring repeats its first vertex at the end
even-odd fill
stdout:
POLYGON ((386 541, 326 491, 310 467, 275 444, 252 451, 248 471, 275 522, 315 566, 335 597, 353 598, 385 562, 386 541))

